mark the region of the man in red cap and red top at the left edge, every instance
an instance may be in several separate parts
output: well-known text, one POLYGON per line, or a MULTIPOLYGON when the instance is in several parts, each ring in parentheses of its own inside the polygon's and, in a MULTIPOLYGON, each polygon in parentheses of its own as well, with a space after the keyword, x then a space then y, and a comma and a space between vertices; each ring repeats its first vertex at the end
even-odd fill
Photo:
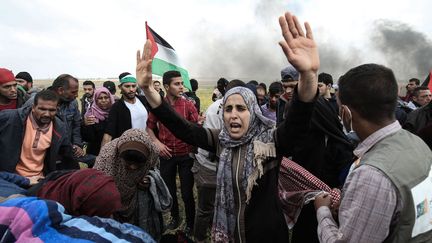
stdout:
POLYGON ((0 68, 0 111, 18 109, 27 101, 28 95, 17 89, 12 71, 0 68))

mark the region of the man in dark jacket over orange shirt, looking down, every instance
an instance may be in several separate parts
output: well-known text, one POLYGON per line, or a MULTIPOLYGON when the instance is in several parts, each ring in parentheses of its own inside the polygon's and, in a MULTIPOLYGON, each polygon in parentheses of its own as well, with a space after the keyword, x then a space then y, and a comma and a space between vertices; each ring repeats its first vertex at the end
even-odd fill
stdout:
POLYGON ((65 124, 56 117, 58 97, 49 90, 33 106, 0 112, 0 171, 43 177, 59 169, 79 169, 65 124))

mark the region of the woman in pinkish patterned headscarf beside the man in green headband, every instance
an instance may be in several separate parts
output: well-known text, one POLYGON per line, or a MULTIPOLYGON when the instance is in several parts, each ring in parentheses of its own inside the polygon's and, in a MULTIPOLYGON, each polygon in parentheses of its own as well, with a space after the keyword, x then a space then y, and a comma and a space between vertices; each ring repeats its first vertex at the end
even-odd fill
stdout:
POLYGON ((107 124, 108 114, 114 104, 114 96, 105 87, 97 88, 93 96, 94 102, 84 115, 81 135, 88 142, 87 153, 98 155, 107 124))

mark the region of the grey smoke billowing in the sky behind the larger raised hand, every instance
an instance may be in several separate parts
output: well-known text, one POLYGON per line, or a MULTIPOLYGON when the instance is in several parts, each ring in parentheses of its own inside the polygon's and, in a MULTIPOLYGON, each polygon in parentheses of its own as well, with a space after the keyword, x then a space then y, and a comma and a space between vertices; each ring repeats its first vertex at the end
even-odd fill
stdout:
MULTIPOLYGON (((236 34, 224 35, 210 23, 199 23, 192 38, 194 49, 187 58, 193 76, 215 83, 219 77, 246 82, 279 80, 280 70, 288 65, 278 45, 282 36, 277 18, 284 8, 282 1, 272 4, 257 1, 254 23, 236 34)), ((294 8, 301 11, 300 5, 294 8)), ((314 28, 314 23, 311 24, 314 28)), ((388 66, 402 82, 411 77, 423 80, 432 68, 431 41, 403 22, 388 19, 373 22, 367 30, 371 37, 359 40, 356 46, 341 47, 335 39, 320 39, 322 31, 314 30, 320 72, 332 74, 335 80, 350 68, 368 62, 388 66)))

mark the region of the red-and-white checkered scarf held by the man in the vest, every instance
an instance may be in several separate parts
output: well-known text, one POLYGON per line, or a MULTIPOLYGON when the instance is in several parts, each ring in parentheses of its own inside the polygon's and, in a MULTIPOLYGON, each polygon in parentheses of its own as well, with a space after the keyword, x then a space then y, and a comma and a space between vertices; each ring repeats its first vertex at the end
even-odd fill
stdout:
POLYGON ((279 198, 288 228, 294 227, 303 205, 313 201, 315 196, 323 191, 331 195, 332 205, 339 203, 339 189, 331 189, 294 161, 282 159, 279 171, 279 198))

